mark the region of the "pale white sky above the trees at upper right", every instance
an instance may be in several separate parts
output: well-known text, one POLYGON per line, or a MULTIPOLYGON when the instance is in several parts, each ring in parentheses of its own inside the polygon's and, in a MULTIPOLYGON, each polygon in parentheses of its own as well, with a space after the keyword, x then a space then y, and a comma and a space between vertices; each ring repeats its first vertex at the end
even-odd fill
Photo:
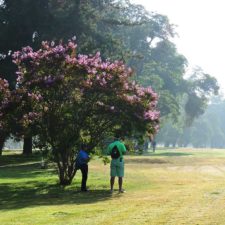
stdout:
POLYGON ((224 0, 130 0, 166 15, 177 27, 173 42, 191 67, 214 76, 225 93, 224 0))

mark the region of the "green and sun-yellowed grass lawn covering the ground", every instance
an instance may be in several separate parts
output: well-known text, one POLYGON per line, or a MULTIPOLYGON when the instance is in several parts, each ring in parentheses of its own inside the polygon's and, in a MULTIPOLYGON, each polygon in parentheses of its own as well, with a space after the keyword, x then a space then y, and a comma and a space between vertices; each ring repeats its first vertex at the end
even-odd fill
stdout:
POLYGON ((225 150, 158 150, 125 163, 127 192, 111 195, 109 165, 99 159, 89 163, 90 192, 81 193, 80 172, 61 187, 53 168, 40 169, 40 156, 3 155, 0 224, 225 224, 225 150))

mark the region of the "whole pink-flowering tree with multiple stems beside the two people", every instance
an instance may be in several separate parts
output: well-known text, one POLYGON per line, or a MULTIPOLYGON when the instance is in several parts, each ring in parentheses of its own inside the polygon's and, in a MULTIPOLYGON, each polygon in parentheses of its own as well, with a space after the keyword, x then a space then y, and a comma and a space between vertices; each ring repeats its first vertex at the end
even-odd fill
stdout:
POLYGON ((81 142, 92 150, 109 133, 121 129, 155 133, 157 94, 130 81, 132 71, 122 62, 76 54, 76 44, 43 42, 33 51, 13 54, 18 66, 17 93, 27 93, 30 110, 25 126, 35 124, 40 148, 50 149, 60 184, 72 182, 75 155, 81 142))

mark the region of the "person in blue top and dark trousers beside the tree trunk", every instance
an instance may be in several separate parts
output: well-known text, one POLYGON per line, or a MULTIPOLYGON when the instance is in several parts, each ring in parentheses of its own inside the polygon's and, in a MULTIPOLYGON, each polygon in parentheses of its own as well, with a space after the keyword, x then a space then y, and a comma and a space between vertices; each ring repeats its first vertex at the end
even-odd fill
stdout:
POLYGON ((87 146, 85 144, 81 145, 81 149, 76 158, 76 169, 81 171, 82 180, 81 180, 81 191, 87 190, 87 178, 88 178, 88 161, 90 157, 87 152, 87 146))

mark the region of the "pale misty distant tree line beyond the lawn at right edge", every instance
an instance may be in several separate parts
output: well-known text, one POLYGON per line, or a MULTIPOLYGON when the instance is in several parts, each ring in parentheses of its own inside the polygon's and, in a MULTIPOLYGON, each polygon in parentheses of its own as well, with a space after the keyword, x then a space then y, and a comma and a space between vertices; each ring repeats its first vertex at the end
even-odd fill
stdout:
POLYGON ((167 123, 157 135, 165 147, 225 148, 225 101, 213 98, 205 113, 191 126, 167 123))

